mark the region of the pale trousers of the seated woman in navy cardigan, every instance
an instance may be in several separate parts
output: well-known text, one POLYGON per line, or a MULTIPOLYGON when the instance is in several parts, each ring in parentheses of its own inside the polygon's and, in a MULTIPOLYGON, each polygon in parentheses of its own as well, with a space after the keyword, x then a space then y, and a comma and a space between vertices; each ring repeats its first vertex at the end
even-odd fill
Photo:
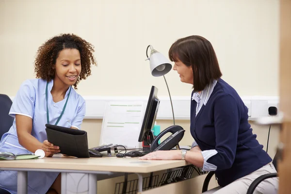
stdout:
MULTIPOLYGON (((261 175, 277 172, 273 163, 261 167, 255 172, 239 178, 225 187, 216 187, 203 194, 246 194, 252 182, 261 175)), ((254 194, 276 194, 278 191, 279 179, 268 178, 259 183, 254 194)))

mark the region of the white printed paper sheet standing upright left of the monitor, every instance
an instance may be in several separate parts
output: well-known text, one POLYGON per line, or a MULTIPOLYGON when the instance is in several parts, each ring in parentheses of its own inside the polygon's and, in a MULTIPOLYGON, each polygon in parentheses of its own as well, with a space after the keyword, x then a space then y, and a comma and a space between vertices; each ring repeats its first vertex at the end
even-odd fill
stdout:
MULTIPOLYGON (((113 101, 106 104, 100 136, 100 146, 118 144, 139 148, 138 137, 144 118, 142 101, 113 101)), ((121 148, 122 149, 122 148, 121 148)))

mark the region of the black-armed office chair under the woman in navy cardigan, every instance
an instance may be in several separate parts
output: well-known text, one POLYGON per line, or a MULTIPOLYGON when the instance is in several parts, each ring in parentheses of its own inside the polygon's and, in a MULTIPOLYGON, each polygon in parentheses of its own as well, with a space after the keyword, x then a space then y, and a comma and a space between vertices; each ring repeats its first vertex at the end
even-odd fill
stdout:
MULTIPOLYGON (((275 157, 274 157, 273 162, 272 162, 272 163, 274 164, 276 170, 277 170, 277 159, 278 159, 278 153, 276 152, 275 157)), ((203 193, 203 192, 206 192, 206 191, 208 190, 208 185, 209 185, 210 179, 211 179, 211 177, 212 177, 213 175, 214 175, 214 171, 210 171, 210 172, 207 174, 207 176, 206 176, 206 178, 205 178, 205 180, 204 180, 204 182, 203 182, 202 193, 203 193)), ((269 174, 265 174, 265 175, 262 175, 262 176, 256 178, 256 179, 252 182, 252 184, 249 186, 249 188, 248 188, 246 194, 253 194, 254 191, 255 191, 255 189, 256 189, 256 187, 257 187, 257 186, 259 185, 259 183, 262 182, 263 180, 265 180, 265 179, 267 179, 267 178, 275 178, 275 177, 277 177, 277 176, 278 176, 277 173, 269 173, 269 174)))

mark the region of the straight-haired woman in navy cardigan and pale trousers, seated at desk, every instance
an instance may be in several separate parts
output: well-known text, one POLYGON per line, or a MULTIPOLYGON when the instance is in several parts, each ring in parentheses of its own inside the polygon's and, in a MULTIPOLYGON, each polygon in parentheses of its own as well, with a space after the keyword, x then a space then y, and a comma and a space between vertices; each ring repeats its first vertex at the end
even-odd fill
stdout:
MULTIPOLYGON (((201 36, 178 39, 169 50, 180 80, 193 85, 191 94, 190 151, 156 151, 143 160, 181 160, 214 171, 220 187, 206 193, 245 194, 259 176, 275 173, 270 156, 256 140, 248 123, 248 109, 241 97, 221 79, 210 42, 201 36), (182 153, 183 152, 183 153, 182 153), (183 158, 182 158, 183 157, 183 158)), ((278 179, 264 180, 257 193, 274 194, 278 179)))

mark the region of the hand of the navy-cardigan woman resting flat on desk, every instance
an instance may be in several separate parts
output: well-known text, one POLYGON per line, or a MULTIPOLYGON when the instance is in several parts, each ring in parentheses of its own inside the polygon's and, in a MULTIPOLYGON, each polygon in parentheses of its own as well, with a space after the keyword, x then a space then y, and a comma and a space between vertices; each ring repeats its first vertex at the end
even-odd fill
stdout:
POLYGON ((181 160, 180 150, 155 151, 140 157, 141 160, 181 160))

